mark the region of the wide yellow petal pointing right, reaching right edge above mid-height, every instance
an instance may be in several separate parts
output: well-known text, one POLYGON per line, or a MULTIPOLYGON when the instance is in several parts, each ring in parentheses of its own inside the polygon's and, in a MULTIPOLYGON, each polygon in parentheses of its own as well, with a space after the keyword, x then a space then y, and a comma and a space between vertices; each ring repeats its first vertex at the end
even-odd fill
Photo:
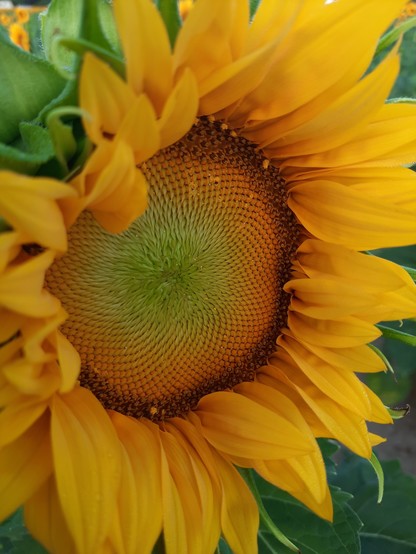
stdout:
POLYGON ((302 225, 326 242, 354 250, 405 246, 416 242, 415 215, 331 181, 294 186, 289 207, 302 225))

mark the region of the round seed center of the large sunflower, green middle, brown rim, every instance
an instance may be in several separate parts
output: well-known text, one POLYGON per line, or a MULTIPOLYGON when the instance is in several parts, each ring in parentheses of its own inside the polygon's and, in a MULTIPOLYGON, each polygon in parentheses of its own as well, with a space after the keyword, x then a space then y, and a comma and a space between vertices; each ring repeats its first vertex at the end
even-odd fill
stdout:
POLYGON ((142 165, 145 214, 115 235, 84 212, 47 274, 81 384, 106 408, 185 413, 275 349, 298 227, 278 170, 233 135, 199 121, 142 165))

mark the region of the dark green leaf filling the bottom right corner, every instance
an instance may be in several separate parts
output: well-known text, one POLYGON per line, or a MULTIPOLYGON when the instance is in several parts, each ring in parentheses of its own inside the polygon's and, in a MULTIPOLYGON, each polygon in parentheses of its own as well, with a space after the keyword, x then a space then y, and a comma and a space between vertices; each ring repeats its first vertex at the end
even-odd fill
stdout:
POLYGON ((382 462, 384 498, 377 504, 377 477, 369 464, 347 457, 339 465, 338 485, 354 495, 351 506, 364 526, 364 554, 416 554, 416 479, 406 475, 397 460, 382 462))

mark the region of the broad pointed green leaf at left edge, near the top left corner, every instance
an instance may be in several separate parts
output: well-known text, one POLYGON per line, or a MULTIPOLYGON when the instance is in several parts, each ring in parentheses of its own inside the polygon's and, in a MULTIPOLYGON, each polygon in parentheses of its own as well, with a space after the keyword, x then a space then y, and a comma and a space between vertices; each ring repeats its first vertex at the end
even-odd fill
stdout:
POLYGON ((31 121, 62 91, 65 81, 45 60, 12 45, 0 33, 0 142, 19 136, 19 123, 31 121))

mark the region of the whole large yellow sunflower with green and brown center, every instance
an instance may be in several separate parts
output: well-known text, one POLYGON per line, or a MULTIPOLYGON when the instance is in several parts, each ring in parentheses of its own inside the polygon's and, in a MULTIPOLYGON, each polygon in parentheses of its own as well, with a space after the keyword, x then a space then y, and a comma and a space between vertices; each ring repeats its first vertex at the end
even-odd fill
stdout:
POLYGON ((416 315, 416 106, 385 104, 398 0, 197 0, 171 47, 114 1, 125 77, 89 53, 95 149, 69 183, 0 173, 0 517, 51 552, 257 550, 253 468, 321 517, 316 438, 391 423, 356 372, 416 315), (334 52, 336 51, 336 55, 334 52))

